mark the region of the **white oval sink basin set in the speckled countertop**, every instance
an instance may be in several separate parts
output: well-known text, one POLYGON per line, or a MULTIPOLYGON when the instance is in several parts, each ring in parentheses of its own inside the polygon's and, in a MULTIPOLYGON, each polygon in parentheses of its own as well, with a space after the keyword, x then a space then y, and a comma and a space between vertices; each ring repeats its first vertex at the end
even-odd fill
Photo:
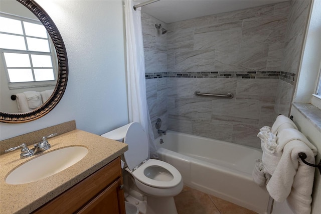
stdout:
POLYGON ((32 159, 12 171, 6 178, 9 184, 35 182, 49 177, 83 159, 88 149, 82 146, 65 147, 32 159))

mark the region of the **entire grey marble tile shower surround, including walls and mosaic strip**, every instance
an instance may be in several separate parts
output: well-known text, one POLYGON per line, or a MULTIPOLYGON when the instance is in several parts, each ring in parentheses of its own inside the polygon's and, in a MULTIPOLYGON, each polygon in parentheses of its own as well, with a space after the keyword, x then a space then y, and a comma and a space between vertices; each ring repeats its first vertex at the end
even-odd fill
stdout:
POLYGON ((289 1, 170 24, 142 13, 152 125, 161 118, 161 129, 260 148, 259 128, 289 112, 308 6, 289 1))

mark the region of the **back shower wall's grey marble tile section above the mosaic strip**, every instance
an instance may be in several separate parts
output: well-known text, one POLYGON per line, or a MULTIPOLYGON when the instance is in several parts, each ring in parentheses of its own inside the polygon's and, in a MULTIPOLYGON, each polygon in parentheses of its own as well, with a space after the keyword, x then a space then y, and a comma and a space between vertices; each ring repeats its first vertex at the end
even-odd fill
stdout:
POLYGON ((169 74, 217 71, 269 78, 283 71, 289 6, 285 2, 169 24, 169 74))

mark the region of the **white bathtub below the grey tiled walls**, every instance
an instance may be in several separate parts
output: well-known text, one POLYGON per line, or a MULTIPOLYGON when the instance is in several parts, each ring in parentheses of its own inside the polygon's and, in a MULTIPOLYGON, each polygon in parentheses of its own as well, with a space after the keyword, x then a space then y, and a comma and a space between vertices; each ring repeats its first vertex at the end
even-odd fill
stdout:
POLYGON ((155 142, 159 159, 175 166, 185 185, 258 213, 267 212, 268 192, 252 180, 255 160, 262 158, 260 150, 173 131, 155 142))

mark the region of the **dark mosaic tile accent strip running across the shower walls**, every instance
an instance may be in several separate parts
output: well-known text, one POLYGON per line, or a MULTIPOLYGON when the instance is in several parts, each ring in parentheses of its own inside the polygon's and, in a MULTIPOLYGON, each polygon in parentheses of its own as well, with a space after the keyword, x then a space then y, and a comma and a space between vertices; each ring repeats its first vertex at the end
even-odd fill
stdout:
POLYGON ((281 79, 294 85, 295 73, 283 71, 200 71, 200 72, 156 72, 145 73, 145 79, 155 78, 242 78, 281 79))

